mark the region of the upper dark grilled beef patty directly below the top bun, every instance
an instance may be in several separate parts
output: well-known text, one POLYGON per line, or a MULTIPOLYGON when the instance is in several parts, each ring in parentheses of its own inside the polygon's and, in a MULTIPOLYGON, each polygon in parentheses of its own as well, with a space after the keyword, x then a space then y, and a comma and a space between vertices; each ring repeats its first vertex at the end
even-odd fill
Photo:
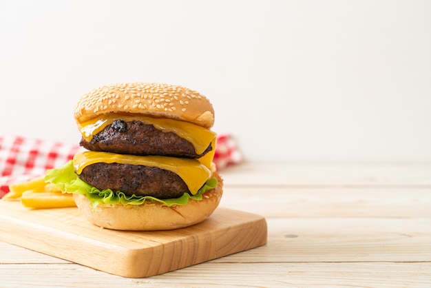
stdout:
POLYGON ((213 149, 210 144, 202 154, 196 154, 193 144, 174 132, 163 132, 140 121, 123 120, 114 121, 90 142, 81 138, 79 144, 92 151, 181 158, 200 158, 213 149))

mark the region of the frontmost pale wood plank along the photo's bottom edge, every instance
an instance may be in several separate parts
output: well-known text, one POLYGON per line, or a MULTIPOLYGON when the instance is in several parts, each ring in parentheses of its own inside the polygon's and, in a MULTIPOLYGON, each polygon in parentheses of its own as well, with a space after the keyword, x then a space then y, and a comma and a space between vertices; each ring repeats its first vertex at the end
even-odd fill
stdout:
POLYGON ((214 263, 149 278, 76 264, 0 265, 1 287, 431 287, 431 263, 214 263), (25 277, 23 277, 25 275, 25 277))

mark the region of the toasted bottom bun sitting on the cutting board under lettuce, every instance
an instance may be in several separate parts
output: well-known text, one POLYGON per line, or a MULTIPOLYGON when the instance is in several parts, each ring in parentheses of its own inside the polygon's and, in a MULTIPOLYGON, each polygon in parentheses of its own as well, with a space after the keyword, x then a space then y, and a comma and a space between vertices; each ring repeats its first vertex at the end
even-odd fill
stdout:
POLYGON ((186 205, 145 201, 141 205, 99 204, 93 209, 83 194, 74 194, 78 209, 85 218, 99 227, 115 230, 151 231, 187 227, 202 222, 218 207, 223 194, 223 181, 213 174, 218 185, 202 195, 202 200, 189 199, 186 205))

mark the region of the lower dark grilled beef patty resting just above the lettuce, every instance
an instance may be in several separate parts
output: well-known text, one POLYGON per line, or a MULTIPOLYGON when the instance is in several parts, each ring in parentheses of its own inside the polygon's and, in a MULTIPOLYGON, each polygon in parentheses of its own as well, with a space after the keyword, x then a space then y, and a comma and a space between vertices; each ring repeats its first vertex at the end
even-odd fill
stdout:
POLYGON ((189 193, 189 188, 180 176, 157 167, 95 163, 85 167, 79 178, 98 189, 109 188, 128 196, 135 194, 166 199, 189 193))

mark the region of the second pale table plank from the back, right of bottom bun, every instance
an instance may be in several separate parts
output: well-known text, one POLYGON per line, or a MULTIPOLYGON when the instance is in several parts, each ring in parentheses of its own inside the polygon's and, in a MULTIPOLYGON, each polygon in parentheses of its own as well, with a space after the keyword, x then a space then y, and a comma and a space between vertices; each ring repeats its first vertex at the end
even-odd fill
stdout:
POLYGON ((431 188, 226 187, 220 207, 266 217, 431 217, 431 188))

